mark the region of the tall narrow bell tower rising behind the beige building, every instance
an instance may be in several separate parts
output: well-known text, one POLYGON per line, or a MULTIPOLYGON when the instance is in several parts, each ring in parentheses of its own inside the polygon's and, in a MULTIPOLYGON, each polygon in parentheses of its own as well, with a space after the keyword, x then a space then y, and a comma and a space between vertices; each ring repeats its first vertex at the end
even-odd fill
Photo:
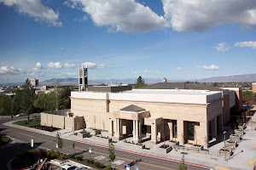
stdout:
POLYGON ((84 90, 88 90, 88 68, 79 65, 79 91, 84 90))

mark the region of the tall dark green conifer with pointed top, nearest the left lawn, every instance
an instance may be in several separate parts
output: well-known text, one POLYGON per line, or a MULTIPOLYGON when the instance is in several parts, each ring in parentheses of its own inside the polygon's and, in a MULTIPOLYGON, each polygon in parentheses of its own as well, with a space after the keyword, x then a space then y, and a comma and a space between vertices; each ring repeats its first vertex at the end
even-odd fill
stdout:
POLYGON ((27 114, 27 121, 29 121, 29 115, 34 111, 33 103, 35 100, 35 90, 32 88, 32 85, 28 79, 26 79, 26 82, 22 88, 23 90, 20 108, 27 114))

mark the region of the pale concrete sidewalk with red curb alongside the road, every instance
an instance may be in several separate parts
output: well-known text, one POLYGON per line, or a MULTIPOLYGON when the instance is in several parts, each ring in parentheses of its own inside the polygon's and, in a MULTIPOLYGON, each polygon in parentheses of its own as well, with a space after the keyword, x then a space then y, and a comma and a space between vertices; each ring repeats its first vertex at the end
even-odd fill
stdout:
MULTIPOLYGON (((256 120, 256 116, 254 117, 256 120)), ((27 131, 35 132, 35 133, 42 133, 45 135, 53 136, 55 137, 57 132, 61 133, 61 138, 63 139, 68 139, 68 140, 73 140, 81 143, 86 143, 86 144, 94 144, 100 147, 108 147, 108 144, 106 143, 100 143, 96 142, 93 139, 86 138, 86 139, 81 139, 75 135, 73 135, 72 131, 69 131, 67 129, 62 129, 57 132, 46 132, 43 130, 38 130, 35 128, 31 127, 21 127, 15 124, 11 124, 12 122, 6 122, 4 125, 6 126, 11 126, 11 127, 17 127, 21 128, 27 131)), ((255 128, 255 124, 253 124, 253 129, 255 128)), ((248 126, 249 127, 249 126, 248 126)), ((243 139, 241 140, 241 143, 239 146, 236 148, 235 153, 233 156, 230 157, 230 160, 227 162, 224 161, 223 157, 215 157, 215 156, 209 156, 209 155, 203 155, 203 154, 198 154, 198 153, 191 153, 191 152, 185 152, 183 150, 172 150, 168 154, 160 154, 154 150, 136 150, 136 149, 131 149, 128 147, 125 147, 119 143, 115 143, 115 149, 116 150, 121 150, 125 152, 131 152, 134 154, 138 155, 143 155, 143 156, 151 156, 151 157, 156 157, 164 160, 169 160, 169 161, 181 161, 183 154, 185 154, 185 161, 188 162, 190 165, 203 165, 206 166, 208 169, 212 167, 213 169, 218 169, 218 167, 221 167, 222 169, 230 169, 230 170, 244 170, 244 169, 252 169, 253 170, 253 165, 249 165, 248 161, 256 161, 256 148, 253 148, 254 145, 256 144, 256 131, 251 130, 251 129, 245 129, 246 134, 243 135, 243 139), (243 150, 243 152, 241 152, 243 150)), ((79 130, 81 131, 81 130, 79 130)), ((221 144, 221 143, 219 143, 221 144)), ((202 166, 200 166, 202 167, 202 166)))

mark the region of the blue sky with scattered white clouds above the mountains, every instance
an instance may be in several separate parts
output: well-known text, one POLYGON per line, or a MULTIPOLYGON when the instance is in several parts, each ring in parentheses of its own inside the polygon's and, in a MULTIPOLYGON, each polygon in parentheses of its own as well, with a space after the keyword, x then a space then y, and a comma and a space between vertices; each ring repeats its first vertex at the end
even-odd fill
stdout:
POLYGON ((256 3, 236 3, 0 0, 0 82, 78 77, 83 63, 91 80, 256 73, 256 3))

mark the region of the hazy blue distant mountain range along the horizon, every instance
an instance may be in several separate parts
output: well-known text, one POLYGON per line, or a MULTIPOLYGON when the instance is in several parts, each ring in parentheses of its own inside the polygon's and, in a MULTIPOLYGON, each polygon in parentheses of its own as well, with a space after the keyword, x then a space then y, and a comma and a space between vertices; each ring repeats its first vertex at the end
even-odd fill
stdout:
MULTIPOLYGON (((98 79, 98 80, 89 80, 90 85, 100 85, 102 83, 107 84, 116 84, 116 83, 125 83, 125 84, 135 84, 137 78, 130 78, 130 79, 98 79)), ((144 81, 148 84, 153 84, 157 82, 162 82, 162 79, 154 79, 154 78, 144 78, 144 81)), ((188 80, 168 80, 167 82, 187 82, 188 80)), ((189 82, 194 82, 195 80, 189 80, 189 82)), ((46 80, 44 82, 40 82, 39 85, 51 85, 54 82, 59 82, 61 85, 78 85, 79 79, 78 78, 52 78, 46 80)), ((233 75, 227 77, 210 77, 210 78, 203 78, 201 80, 197 80, 197 82, 256 82, 256 74, 246 74, 246 75, 233 75)), ((9 83, 1 83, 0 85, 9 85, 9 86, 18 86, 23 85, 24 82, 9 82, 9 83)))

